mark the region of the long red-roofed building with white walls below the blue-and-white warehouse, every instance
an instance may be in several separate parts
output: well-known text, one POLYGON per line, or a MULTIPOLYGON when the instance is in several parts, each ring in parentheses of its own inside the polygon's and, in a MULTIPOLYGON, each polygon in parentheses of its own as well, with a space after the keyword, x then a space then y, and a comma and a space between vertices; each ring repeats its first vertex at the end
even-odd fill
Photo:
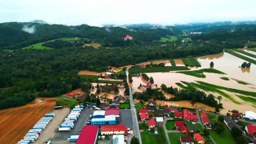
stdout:
POLYGON ((125 125, 102 125, 101 135, 122 135, 127 134, 125 125))

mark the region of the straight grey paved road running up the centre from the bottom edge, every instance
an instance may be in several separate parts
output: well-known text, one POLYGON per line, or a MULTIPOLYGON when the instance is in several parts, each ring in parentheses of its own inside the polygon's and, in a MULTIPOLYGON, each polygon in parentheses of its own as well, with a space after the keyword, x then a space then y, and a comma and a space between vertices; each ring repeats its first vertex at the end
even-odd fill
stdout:
MULTIPOLYGON (((128 79, 128 74, 129 74, 129 68, 126 69, 126 76, 127 76, 127 82, 129 81, 128 79)), ((133 133, 134 135, 138 138, 139 143, 142 144, 142 140, 141 140, 141 133, 139 133, 139 128, 138 128, 138 119, 137 119, 137 115, 136 115, 136 109, 135 107, 135 103, 133 101, 133 97, 132 97, 132 89, 129 85, 129 90, 130 90, 130 105, 131 105, 131 114, 132 114, 132 124, 133 124, 133 133)))

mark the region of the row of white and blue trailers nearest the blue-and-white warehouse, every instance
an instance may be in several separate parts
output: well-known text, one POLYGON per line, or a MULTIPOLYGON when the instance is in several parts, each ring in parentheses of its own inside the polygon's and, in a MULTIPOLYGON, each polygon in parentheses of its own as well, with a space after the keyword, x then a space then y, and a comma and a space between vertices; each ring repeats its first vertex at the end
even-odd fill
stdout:
POLYGON ((59 131, 71 131, 74 128, 74 122, 78 120, 82 110, 83 107, 73 109, 60 124, 59 131))

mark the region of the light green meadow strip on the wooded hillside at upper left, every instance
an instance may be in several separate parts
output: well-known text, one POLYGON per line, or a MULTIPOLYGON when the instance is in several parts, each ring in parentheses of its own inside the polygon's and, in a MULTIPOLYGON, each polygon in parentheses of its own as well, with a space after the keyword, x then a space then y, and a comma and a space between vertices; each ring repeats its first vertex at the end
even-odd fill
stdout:
MULTIPOLYGON (((25 50, 25 49, 38 49, 38 50, 51 50, 53 48, 51 47, 46 47, 46 46, 42 46, 44 43, 47 43, 47 42, 50 42, 50 41, 55 41, 55 40, 64 40, 64 41, 75 41, 76 38, 60 38, 60 39, 54 39, 54 40, 49 40, 49 41, 46 41, 46 42, 43 42, 43 43, 37 43, 37 44, 33 44, 33 45, 30 45, 30 46, 27 46, 27 47, 22 47, 21 49, 22 50, 25 50)), ((80 40, 80 38, 78 38, 77 40, 80 40)))

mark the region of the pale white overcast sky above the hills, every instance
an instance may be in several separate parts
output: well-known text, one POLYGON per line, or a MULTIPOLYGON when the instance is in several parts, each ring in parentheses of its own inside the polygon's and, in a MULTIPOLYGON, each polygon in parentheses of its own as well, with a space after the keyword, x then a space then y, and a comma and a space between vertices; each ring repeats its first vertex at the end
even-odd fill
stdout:
POLYGON ((0 4, 0 22, 101 26, 254 21, 255 5, 256 0, 8 0, 0 4))

